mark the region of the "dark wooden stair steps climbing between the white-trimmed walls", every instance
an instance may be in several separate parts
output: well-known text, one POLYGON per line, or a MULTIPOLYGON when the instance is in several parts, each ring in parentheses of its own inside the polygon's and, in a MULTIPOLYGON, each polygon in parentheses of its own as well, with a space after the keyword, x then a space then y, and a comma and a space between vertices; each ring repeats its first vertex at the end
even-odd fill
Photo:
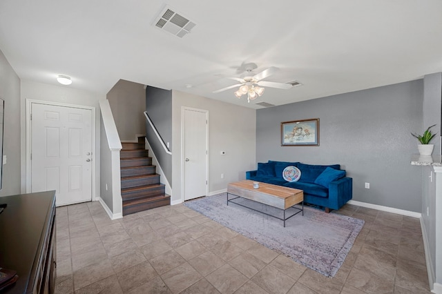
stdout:
POLYGON ((171 204, 152 157, 144 148, 144 137, 137 143, 122 143, 120 168, 122 177, 123 215, 171 204))

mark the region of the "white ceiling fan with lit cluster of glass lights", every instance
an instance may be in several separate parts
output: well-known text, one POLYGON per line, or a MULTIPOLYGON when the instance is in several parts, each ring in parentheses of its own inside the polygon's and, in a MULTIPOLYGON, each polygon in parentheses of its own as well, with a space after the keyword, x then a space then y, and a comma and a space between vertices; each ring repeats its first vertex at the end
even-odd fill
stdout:
POLYGON ((285 84, 285 83, 276 83, 274 81, 262 81, 262 79, 265 79, 266 77, 269 77, 270 75, 273 75, 275 72, 277 72, 279 69, 271 66, 270 68, 267 68, 266 70, 262 70, 262 72, 259 72, 258 74, 253 74, 253 70, 257 68, 255 63, 247 63, 243 65, 246 72, 242 78, 240 77, 228 77, 227 79, 233 79, 235 81, 239 81, 240 84, 235 84, 232 86, 228 86, 226 88, 222 88, 220 90, 215 90, 213 93, 219 93, 225 90, 229 90, 231 88, 240 87, 236 92, 234 93, 236 97, 241 98, 242 95, 247 94, 247 102, 250 103, 250 100, 256 99, 256 97, 261 96, 264 93, 264 88, 262 87, 270 87, 270 88, 278 88, 278 89, 289 89, 292 88, 292 84, 285 84))

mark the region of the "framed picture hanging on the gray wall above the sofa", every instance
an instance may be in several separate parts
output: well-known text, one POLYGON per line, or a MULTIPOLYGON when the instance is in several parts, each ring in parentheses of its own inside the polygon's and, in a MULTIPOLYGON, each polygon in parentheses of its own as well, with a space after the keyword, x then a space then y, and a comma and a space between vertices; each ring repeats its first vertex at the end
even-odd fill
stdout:
POLYGON ((319 146, 319 119, 283 121, 281 146, 319 146))

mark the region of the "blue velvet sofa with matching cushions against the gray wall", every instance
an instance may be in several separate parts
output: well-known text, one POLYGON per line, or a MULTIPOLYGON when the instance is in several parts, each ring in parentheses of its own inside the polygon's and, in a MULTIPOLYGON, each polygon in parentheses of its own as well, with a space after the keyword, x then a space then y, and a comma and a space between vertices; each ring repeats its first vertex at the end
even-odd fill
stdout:
POLYGON ((339 164, 318 166, 300 162, 271 161, 258 163, 257 170, 246 172, 246 179, 304 191, 304 202, 323 206, 325 212, 339 209, 352 199, 353 179, 345 176, 339 164), (296 166, 301 172, 298 182, 287 182, 282 171, 287 166, 296 166))

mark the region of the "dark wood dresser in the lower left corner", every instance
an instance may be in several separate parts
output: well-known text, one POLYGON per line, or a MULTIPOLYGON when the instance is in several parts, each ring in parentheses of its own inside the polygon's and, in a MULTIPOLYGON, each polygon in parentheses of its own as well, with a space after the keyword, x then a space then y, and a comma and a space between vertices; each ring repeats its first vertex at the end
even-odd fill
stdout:
POLYGON ((55 191, 0 197, 0 267, 19 279, 3 293, 54 293, 55 191))

